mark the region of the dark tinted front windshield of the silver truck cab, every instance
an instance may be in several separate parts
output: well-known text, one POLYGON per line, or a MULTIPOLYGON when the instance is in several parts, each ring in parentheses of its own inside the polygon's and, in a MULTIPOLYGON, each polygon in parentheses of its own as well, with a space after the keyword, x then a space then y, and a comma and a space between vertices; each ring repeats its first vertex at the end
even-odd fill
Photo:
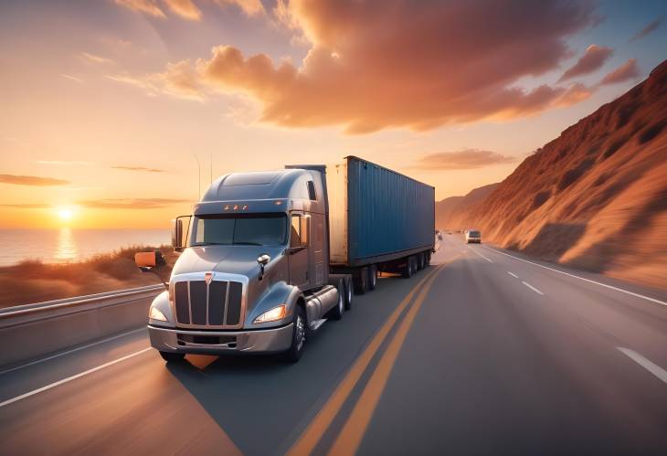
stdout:
POLYGON ((195 216, 189 245, 278 246, 287 242, 285 214, 195 216))

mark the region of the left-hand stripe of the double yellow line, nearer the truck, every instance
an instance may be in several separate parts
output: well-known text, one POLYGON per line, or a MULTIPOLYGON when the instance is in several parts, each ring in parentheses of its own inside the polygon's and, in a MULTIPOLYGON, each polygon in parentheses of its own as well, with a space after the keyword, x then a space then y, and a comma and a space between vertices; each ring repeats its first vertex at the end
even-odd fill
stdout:
POLYGON ((376 333, 376 335, 371 340, 371 343, 365 348, 364 353, 356 358, 355 364, 352 366, 352 368, 350 368, 341 384, 335 389, 334 394, 324 404, 323 408, 317 413, 315 418, 312 419, 311 424, 303 431, 299 439, 294 442, 290 450, 287 451, 289 456, 310 454, 314 450, 317 443, 320 441, 320 439, 322 439, 326 429, 329 428, 332 421, 334 421, 335 416, 343 407, 345 399, 347 399, 347 397, 352 392, 352 389, 359 381, 359 378, 362 376, 362 374, 364 374, 364 371, 368 364, 371 362, 371 359, 374 355, 376 355, 377 349, 386 339, 386 335, 389 334, 389 330, 391 330, 391 328, 396 323, 398 316, 408 306, 408 303, 412 300, 412 297, 415 295, 422 283, 429 280, 429 278, 432 277, 441 266, 442 265, 436 266, 434 270, 429 272, 429 275, 424 277, 421 281, 418 281, 418 283, 408 293, 408 296, 406 296, 403 301, 398 304, 398 307, 394 310, 394 312, 389 315, 389 318, 387 318, 385 324, 382 326, 382 328, 380 328, 380 331, 376 333))

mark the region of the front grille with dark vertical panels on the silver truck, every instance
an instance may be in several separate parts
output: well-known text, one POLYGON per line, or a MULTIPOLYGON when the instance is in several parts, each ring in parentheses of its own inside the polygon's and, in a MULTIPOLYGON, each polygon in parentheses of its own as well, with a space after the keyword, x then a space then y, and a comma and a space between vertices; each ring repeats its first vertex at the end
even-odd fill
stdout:
POLYGON ((198 326, 241 323, 243 284, 240 281, 176 281, 176 322, 198 326))

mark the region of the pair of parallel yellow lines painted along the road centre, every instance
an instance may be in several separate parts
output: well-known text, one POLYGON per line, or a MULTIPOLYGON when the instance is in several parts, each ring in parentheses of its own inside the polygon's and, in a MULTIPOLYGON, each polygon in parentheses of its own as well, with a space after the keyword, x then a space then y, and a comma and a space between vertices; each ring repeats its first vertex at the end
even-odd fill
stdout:
POLYGON ((371 359, 376 355, 380 345, 385 341, 389 331, 396 324, 398 317, 408 307, 412 298, 419 291, 417 299, 409 309, 406 317, 398 326, 394 338, 387 346, 385 353, 382 355, 382 358, 376 366, 376 370, 365 385, 361 397, 356 402, 352 414, 345 422, 343 429, 334 441, 334 445, 329 452, 331 455, 348 455, 355 453, 364 437, 365 429, 368 427, 368 423, 373 417, 377 402, 382 396, 386 382, 391 374, 391 369, 396 362, 401 346, 405 342, 410 326, 415 320, 415 316, 442 266, 444 265, 440 264, 419 281, 408 293, 408 296, 398 304, 394 312, 389 315, 385 324, 373 337, 371 343, 365 348, 364 353, 356 359, 355 364, 344 377, 341 384, 335 389, 334 394, 329 398, 326 404, 324 404, 323 408, 317 413, 308 428, 303 431, 299 439, 297 439, 291 446, 291 449, 287 452, 289 456, 302 456, 312 453, 315 446, 322 439, 324 432, 329 428, 340 412, 345 400, 349 397, 353 388, 359 381, 359 378, 364 374, 371 359))

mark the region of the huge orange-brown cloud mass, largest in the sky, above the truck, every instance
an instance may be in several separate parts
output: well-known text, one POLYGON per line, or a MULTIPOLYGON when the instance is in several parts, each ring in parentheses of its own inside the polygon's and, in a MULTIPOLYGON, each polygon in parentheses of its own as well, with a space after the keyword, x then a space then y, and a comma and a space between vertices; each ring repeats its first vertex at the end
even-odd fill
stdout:
POLYGON ((491 0, 278 5, 281 20, 310 43, 301 64, 218 46, 210 58, 170 63, 159 83, 157 75, 141 83, 150 82, 152 95, 199 100, 209 91, 245 94, 259 101, 261 122, 285 127, 370 133, 509 119, 558 106, 566 88, 517 83, 557 69, 569 55, 566 37, 595 21, 589 3, 556 0, 511 8, 491 0))

